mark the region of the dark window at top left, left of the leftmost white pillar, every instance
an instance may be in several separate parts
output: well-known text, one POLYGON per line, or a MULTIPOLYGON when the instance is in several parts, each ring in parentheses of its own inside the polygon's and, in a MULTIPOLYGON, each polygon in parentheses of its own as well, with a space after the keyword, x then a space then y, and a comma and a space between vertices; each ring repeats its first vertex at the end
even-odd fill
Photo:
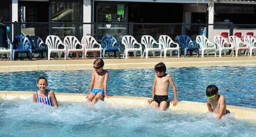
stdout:
POLYGON ((11 0, 1 0, 0 17, 7 22, 11 21, 11 0))

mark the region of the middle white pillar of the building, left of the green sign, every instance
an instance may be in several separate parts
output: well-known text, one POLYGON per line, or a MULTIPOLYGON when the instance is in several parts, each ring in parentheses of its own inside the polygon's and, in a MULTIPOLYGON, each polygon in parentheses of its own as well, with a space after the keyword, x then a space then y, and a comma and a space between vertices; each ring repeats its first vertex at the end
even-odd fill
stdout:
MULTIPOLYGON (((83 21, 84 23, 91 23, 92 22, 92 3, 90 0, 84 0, 84 6, 83 6, 83 10, 84 10, 84 15, 83 15, 83 21)), ((93 32, 91 32, 91 25, 90 24, 85 24, 83 26, 84 28, 84 36, 86 36, 86 34, 92 34, 93 32)))

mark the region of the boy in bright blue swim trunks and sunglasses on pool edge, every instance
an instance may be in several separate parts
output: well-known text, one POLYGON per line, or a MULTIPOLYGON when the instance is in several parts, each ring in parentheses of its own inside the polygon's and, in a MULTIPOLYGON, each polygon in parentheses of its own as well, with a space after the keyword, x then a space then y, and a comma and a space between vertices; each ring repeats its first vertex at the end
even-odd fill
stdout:
POLYGON ((108 71, 103 69, 104 61, 102 58, 94 60, 94 70, 92 71, 92 81, 90 84, 90 94, 86 102, 92 102, 94 105, 98 99, 103 99, 106 95, 106 83, 108 82, 108 71))

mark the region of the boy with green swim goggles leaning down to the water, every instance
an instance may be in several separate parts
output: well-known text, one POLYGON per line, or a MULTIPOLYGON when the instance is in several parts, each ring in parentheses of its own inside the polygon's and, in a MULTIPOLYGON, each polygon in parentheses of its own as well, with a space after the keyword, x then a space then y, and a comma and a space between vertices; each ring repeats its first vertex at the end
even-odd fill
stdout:
POLYGON ((218 113, 217 120, 222 118, 226 113, 230 113, 226 109, 226 99, 223 95, 219 95, 216 85, 208 85, 206 88, 207 107, 210 112, 218 113))

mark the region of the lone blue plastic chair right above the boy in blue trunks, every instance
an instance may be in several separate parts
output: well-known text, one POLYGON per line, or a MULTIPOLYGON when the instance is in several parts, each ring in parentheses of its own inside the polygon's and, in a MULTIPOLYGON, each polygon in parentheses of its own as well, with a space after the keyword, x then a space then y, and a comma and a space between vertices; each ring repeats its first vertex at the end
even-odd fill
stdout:
POLYGON ((104 35, 101 40, 102 45, 102 54, 103 58, 105 57, 106 52, 114 52, 116 57, 116 52, 119 52, 119 58, 121 53, 121 47, 119 42, 117 42, 116 38, 112 35, 104 35))

